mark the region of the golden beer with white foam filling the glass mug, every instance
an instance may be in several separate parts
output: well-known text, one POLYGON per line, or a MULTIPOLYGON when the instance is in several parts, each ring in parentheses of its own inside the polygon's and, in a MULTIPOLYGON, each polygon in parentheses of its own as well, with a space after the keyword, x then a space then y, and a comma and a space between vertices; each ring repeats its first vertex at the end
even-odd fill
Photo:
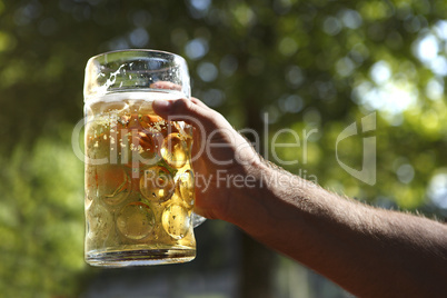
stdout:
POLYGON ((97 266, 188 261, 192 129, 153 113, 177 91, 116 92, 86 101, 86 260, 97 266))

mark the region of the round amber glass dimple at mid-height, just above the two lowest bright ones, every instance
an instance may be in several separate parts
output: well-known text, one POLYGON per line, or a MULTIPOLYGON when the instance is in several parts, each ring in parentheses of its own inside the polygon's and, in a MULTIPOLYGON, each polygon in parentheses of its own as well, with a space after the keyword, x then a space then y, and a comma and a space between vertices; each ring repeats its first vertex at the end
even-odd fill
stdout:
POLYGON ((172 176, 163 167, 146 169, 140 178, 140 191, 149 200, 166 201, 172 196, 173 190, 172 176))

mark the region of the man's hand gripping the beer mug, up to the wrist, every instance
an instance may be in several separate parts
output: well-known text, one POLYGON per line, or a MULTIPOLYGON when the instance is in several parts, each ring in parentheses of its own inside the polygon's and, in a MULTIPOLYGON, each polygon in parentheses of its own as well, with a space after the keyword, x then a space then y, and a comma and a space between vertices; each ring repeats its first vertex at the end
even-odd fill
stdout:
POLYGON ((244 179, 260 163, 259 156, 217 111, 192 98, 156 100, 153 111, 195 129, 192 168, 196 173, 195 211, 207 218, 229 220, 232 200, 242 196, 231 179, 244 179))

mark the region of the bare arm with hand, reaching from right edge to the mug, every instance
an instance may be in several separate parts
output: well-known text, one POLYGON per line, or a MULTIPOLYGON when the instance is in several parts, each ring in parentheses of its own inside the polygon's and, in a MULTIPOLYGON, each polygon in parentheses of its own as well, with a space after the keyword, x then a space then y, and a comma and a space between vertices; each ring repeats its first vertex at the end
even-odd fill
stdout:
MULTIPOLYGON (((197 175, 210 178, 206 189, 196 189, 198 212, 237 225, 360 297, 447 292, 446 225, 341 198, 264 162, 219 113, 197 99, 157 102, 155 110, 178 120, 193 117, 202 123, 196 129, 212 136, 207 145, 227 145, 193 163, 197 175), (216 162, 229 159, 234 162, 216 162)), ((200 143, 196 140, 196 148, 200 143)))

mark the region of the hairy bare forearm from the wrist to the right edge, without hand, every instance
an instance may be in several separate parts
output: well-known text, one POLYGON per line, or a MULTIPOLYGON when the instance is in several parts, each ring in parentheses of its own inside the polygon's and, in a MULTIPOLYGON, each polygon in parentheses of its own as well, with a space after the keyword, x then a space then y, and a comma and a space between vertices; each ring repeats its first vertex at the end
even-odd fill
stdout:
POLYGON ((444 225, 340 198, 266 166, 251 172, 259 187, 236 195, 228 219, 254 238, 361 297, 443 292, 444 225))

